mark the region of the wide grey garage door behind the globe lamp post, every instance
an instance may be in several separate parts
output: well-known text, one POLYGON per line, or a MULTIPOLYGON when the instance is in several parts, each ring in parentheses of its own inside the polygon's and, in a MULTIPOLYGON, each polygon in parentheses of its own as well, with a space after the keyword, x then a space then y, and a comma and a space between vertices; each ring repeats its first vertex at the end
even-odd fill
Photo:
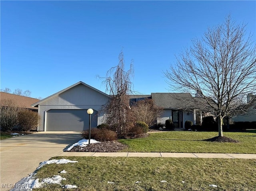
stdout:
MULTIPOLYGON (((91 127, 97 126, 96 111, 91 127)), ((46 112, 46 131, 84 131, 89 129, 89 115, 85 109, 51 109, 46 112)))

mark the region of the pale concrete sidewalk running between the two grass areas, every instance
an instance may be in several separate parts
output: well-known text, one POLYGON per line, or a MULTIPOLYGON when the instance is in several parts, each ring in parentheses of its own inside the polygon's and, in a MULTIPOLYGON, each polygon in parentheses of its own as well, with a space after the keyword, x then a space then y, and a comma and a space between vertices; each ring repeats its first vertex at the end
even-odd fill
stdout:
POLYGON ((226 153, 162 153, 162 152, 62 152, 57 156, 94 156, 94 157, 169 157, 169 158, 232 158, 256 159, 256 154, 226 153))

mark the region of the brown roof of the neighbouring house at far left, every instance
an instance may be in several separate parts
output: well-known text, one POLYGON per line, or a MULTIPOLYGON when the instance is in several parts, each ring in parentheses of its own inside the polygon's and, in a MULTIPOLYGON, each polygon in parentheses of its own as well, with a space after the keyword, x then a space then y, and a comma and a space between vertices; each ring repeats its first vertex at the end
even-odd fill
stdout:
POLYGON ((0 100, 1 100, 1 104, 2 104, 2 100, 13 100, 20 107, 34 109, 34 110, 38 109, 31 106, 33 103, 39 101, 39 99, 36 99, 36 98, 0 92, 0 100))

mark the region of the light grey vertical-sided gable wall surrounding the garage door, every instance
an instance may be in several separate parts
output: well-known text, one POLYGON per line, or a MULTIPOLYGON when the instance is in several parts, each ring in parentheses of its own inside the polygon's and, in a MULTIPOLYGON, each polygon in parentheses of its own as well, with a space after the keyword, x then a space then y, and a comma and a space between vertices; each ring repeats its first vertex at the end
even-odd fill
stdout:
MULTIPOLYGON (((109 97, 91 89, 83 84, 76 85, 71 89, 46 100, 38 106, 38 112, 41 120, 38 131, 44 131, 45 114, 50 109, 88 109, 92 108, 99 111, 102 105, 106 104, 109 97)), ((98 124, 102 121, 102 117, 98 118, 98 124)))

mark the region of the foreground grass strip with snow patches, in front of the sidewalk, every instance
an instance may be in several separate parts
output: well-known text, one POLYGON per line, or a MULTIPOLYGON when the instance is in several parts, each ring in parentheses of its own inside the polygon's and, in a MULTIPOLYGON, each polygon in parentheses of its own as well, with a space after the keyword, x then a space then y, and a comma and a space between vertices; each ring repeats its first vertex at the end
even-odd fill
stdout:
MULTIPOLYGON (((54 157, 52 159, 61 159, 54 157)), ((40 178, 61 175, 76 191, 254 191, 255 159, 65 157, 78 163, 50 164, 40 178), (59 172, 66 170, 67 173, 59 172), (165 180, 167 182, 161 183, 165 180), (109 184, 108 181, 114 182, 109 184), (141 181, 141 183, 135 183, 141 181), (182 183, 185 181, 185 183, 182 183), (218 187, 209 187, 215 184, 218 187)), ((62 191, 46 185, 33 191, 62 191)), ((65 189, 66 190, 66 189, 65 189)), ((68 189, 67 189, 68 190, 68 189)))

